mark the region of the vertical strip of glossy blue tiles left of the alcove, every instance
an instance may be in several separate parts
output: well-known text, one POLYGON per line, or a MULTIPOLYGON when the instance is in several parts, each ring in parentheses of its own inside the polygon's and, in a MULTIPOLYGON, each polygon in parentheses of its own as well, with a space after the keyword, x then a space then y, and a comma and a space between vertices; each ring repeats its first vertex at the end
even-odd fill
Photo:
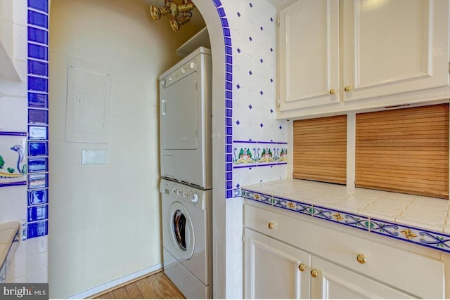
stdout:
POLYGON ((23 240, 48 234, 49 1, 27 0, 28 193, 23 240))

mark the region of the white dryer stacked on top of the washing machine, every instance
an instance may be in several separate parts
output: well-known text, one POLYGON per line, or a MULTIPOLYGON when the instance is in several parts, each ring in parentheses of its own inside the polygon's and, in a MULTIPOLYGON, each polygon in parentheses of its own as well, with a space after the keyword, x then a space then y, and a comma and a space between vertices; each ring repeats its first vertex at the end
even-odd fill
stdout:
POLYGON ((200 47, 160 76, 161 176, 212 188, 212 60, 200 47))

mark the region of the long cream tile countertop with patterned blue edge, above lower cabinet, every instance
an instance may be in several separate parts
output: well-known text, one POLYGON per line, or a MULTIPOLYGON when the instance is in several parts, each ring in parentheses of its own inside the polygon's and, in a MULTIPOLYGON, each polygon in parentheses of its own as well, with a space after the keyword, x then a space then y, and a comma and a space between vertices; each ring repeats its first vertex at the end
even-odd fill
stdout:
POLYGON ((450 252, 450 202, 345 185, 281 179, 244 185, 243 198, 450 252))

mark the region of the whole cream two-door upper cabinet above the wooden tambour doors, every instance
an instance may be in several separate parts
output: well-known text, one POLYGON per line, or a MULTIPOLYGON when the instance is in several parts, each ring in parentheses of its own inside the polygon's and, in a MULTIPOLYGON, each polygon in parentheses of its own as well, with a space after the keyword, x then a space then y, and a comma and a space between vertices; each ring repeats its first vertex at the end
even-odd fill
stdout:
POLYGON ((278 18, 278 118, 450 98, 449 0, 297 0, 278 18))

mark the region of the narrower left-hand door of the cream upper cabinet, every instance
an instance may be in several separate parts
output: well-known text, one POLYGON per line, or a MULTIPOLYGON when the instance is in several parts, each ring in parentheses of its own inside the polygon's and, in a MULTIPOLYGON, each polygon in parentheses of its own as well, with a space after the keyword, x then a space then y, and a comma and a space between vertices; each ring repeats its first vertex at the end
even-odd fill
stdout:
POLYGON ((279 110, 339 102, 339 1, 295 1, 278 18, 279 110))

